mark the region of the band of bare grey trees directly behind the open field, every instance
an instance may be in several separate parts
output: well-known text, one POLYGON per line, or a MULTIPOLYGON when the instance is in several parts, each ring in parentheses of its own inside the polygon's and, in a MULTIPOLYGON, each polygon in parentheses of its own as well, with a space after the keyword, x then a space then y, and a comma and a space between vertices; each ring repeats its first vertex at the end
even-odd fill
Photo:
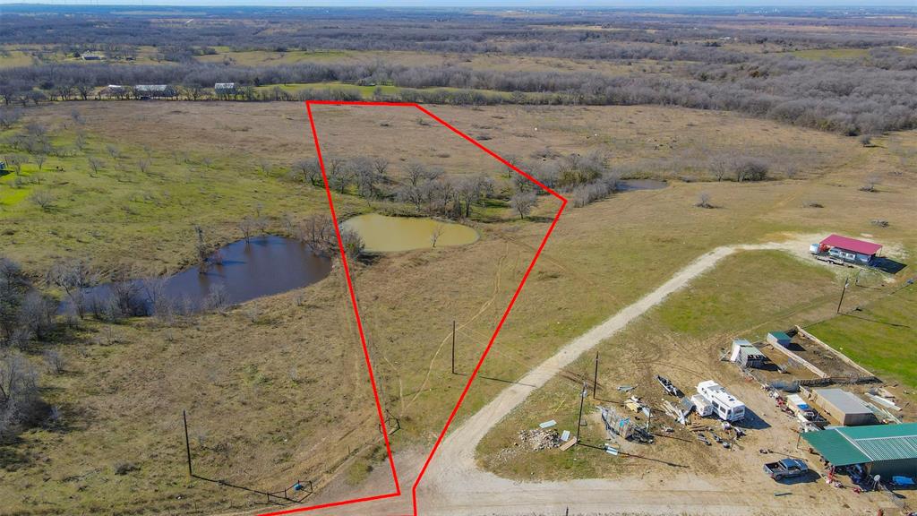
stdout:
MULTIPOLYGON (((876 59, 888 59, 884 52, 876 54, 876 59)), ((899 68, 904 61, 899 61, 899 68)), ((347 92, 323 93, 321 88, 299 95, 279 89, 253 89, 266 84, 344 82, 410 88, 386 96, 417 102, 656 104, 738 111, 849 135, 917 127, 917 68, 886 70, 850 62, 810 62, 775 56, 760 56, 755 62, 739 64, 697 63, 682 73, 628 75, 408 67, 381 62, 256 67, 198 62, 45 64, 0 71, 0 99, 6 105, 37 104, 46 98, 88 99, 94 96, 95 88, 107 84, 181 85, 185 91, 182 97, 201 99, 204 88, 226 82, 238 84, 242 94, 236 96, 239 100, 347 97, 347 92), (424 90, 437 87, 460 91, 424 90)))

